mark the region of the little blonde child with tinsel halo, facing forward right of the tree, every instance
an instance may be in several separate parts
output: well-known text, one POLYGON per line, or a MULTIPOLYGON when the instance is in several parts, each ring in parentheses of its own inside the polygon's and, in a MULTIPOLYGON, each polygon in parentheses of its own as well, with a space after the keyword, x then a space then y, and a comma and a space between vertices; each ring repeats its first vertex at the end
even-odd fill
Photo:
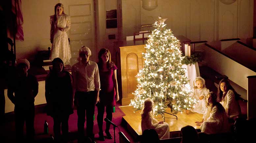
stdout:
POLYGON ((206 88, 205 80, 202 77, 197 77, 193 83, 194 88, 192 89, 191 97, 198 99, 198 102, 194 105, 195 108, 191 111, 204 114, 207 110, 206 96, 210 91, 206 88))

